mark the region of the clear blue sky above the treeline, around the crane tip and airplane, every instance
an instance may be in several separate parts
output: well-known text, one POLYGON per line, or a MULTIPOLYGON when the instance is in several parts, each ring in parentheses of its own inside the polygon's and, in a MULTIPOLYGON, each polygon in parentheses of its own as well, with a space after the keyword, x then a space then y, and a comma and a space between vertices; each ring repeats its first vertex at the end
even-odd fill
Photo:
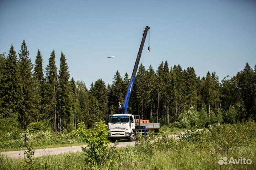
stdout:
POLYGON ((16 52, 26 40, 31 60, 39 49, 44 67, 52 50, 57 67, 67 58, 70 77, 86 86, 102 78, 112 83, 116 70, 132 74, 142 33, 150 26, 151 51, 140 63, 156 70, 161 61, 200 77, 236 75, 246 62, 256 64, 256 1, 0 1, 0 53, 16 52), (116 56, 107 59, 107 56, 116 56))

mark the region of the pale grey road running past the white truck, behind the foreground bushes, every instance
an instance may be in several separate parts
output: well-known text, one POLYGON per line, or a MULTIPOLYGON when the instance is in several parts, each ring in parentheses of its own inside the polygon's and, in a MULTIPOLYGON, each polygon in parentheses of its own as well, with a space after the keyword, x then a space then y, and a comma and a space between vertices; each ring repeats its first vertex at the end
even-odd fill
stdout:
MULTIPOLYGON (((202 131, 203 129, 198 129, 202 131)), ((180 134, 184 134, 185 132, 181 132, 180 134)), ((169 137, 178 138, 177 135, 170 135, 169 137)), ((135 142, 127 142, 120 141, 117 147, 126 147, 129 145, 134 145, 135 142)), ((110 143, 110 146, 113 146, 114 143, 110 143)), ((81 152, 82 146, 69 146, 69 147, 59 147, 59 148, 46 148, 46 149, 36 149, 34 152, 34 157, 41 157, 46 155, 58 155, 67 152, 81 152)), ((10 151, 10 152, 2 152, 1 154, 7 155, 7 157, 22 159, 24 158, 24 150, 23 151, 10 151)))

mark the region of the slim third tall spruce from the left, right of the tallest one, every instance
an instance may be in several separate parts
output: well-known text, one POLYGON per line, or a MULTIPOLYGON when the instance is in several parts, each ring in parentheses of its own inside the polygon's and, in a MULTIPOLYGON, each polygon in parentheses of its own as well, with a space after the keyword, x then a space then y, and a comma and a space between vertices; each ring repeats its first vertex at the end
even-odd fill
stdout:
POLYGON ((46 113, 44 113, 44 87, 45 78, 43 73, 43 58, 41 52, 37 51, 36 61, 34 64, 33 78, 35 83, 35 98, 36 98, 36 108, 39 114, 36 115, 36 120, 42 120, 47 118, 46 113))

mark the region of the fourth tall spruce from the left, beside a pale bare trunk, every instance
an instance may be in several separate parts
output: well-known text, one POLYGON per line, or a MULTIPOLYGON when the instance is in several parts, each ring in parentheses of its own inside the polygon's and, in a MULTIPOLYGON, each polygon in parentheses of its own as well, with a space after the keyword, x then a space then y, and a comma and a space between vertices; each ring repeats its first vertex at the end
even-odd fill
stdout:
POLYGON ((58 84, 58 75, 57 67, 55 65, 55 51, 53 50, 50 54, 49 65, 46 68, 46 91, 45 91, 45 102, 46 108, 45 112, 49 114, 49 118, 53 118, 52 122, 54 125, 54 131, 57 134, 57 84, 58 84))

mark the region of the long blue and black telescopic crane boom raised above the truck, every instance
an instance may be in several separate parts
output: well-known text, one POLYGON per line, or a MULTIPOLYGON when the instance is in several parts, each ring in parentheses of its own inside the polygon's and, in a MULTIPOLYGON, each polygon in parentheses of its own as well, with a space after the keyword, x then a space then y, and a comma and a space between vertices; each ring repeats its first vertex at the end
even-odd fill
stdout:
POLYGON ((140 43, 140 48, 139 48, 139 52, 138 52, 138 55, 137 55, 137 58, 136 58, 136 62, 135 62, 134 68, 133 68, 132 77, 130 79, 130 83, 129 83, 129 86, 128 86, 128 89, 127 89, 126 98, 125 98, 124 104, 123 104, 123 113, 124 114, 128 113, 128 103, 129 103, 129 100, 130 100, 130 95, 132 93, 132 89, 133 89, 133 85, 134 85, 134 81, 135 81, 135 76, 136 76, 137 69, 138 69, 138 66, 139 66, 139 61, 140 61, 140 57, 142 55, 142 50, 143 50, 143 46, 144 46, 144 43, 145 43, 145 40, 146 40, 148 30, 149 30, 149 27, 146 26, 145 30, 144 30, 144 33, 143 33, 143 36, 142 36, 142 42, 140 43))

